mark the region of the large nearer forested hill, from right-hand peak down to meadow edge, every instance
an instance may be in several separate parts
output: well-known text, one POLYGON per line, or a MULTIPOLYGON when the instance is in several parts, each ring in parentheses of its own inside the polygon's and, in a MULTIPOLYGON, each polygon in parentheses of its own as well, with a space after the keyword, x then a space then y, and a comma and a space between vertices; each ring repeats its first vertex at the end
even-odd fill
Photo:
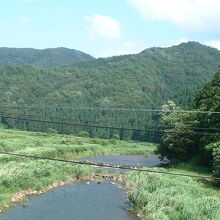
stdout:
POLYGON ((157 113, 77 110, 75 107, 159 108, 167 100, 183 106, 190 103, 197 90, 213 77, 219 59, 218 50, 189 42, 56 69, 4 66, 0 68, 0 103, 14 104, 15 107, 0 107, 0 111, 13 116, 121 129, 51 127, 35 122, 2 121, 9 128, 23 130, 44 132, 51 127, 65 134, 85 130, 90 137, 155 141, 160 134, 125 131, 123 127, 145 129, 155 126, 158 124, 157 113), (16 107, 23 104, 36 108, 16 107), (45 105, 56 108, 37 108, 45 105), (63 109, 65 106, 68 108, 63 109))

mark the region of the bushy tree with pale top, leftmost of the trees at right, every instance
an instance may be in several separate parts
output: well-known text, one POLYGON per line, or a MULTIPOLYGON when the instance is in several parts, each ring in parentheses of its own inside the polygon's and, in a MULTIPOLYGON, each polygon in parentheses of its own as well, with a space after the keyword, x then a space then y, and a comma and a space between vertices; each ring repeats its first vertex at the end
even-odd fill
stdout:
POLYGON ((198 154, 197 139, 194 135, 194 127, 198 126, 197 114, 188 112, 178 112, 174 102, 162 106, 164 112, 161 113, 162 125, 165 132, 157 152, 162 157, 172 160, 189 160, 198 154), (174 111, 174 112, 167 112, 174 111), (176 111, 176 112, 175 112, 176 111))

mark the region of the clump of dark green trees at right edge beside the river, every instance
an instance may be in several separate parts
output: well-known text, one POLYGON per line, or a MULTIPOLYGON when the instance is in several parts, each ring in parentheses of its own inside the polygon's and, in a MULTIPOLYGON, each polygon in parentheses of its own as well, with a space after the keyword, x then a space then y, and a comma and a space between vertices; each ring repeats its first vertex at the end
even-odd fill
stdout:
MULTIPOLYGON (((163 109, 179 110, 173 102, 163 109)), ((220 71, 198 93, 190 110, 220 111, 220 71)), ((157 148, 162 157, 167 156, 173 162, 190 161, 207 167, 213 167, 215 176, 220 176, 220 132, 219 114, 200 113, 162 113, 163 124, 168 127, 157 148), (170 127, 170 128, 169 128, 170 127), (179 133, 174 133, 179 132, 179 133), (198 135, 208 133, 209 135, 198 135)))

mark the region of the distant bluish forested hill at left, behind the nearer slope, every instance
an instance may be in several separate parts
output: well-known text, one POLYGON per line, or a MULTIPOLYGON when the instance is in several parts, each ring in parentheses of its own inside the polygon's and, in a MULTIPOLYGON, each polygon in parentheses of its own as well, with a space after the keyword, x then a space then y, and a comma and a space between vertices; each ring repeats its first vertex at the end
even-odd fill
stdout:
POLYGON ((0 48, 0 65, 28 64, 39 67, 58 67, 93 59, 78 50, 54 48, 37 50, 31 48, 0 48))

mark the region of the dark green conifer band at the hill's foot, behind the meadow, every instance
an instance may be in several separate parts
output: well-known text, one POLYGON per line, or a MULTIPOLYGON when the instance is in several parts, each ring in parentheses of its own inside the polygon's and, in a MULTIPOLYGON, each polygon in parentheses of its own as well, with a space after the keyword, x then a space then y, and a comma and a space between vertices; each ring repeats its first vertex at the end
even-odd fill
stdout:
POLYGON ((159 141, 161 136, 160 132, 154 132, 159 126, 157 112, 0 106, 0 115, 8 128, 28 131, 48 132, 53 129, 60 134, 72 135, 85 131, 90 137, 152 142, 159 141), (140 131, 145 129, 152 132, 140 131))

